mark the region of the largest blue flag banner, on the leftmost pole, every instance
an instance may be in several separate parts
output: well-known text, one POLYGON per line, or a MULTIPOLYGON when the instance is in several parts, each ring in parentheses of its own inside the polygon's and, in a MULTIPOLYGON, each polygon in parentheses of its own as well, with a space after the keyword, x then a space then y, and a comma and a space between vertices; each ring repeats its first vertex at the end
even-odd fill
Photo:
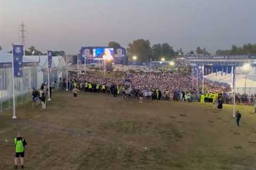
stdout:
POLYGON ((23 77, 22 66, 23 66, 23 55, 24 47, 22 45, 13 45, 13 70, 14 77, 23 77))

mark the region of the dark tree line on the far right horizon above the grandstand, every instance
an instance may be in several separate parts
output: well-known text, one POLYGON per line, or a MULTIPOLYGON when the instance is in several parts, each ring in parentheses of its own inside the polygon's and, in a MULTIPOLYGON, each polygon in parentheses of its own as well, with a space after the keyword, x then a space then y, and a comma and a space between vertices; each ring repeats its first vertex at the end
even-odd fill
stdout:
POLYGON ((247 55, 247 54, 256 54, 256 44, 244 44, 243 47, 236 45, 231 46, 231 49, 218 49, 216 55, 247 55))

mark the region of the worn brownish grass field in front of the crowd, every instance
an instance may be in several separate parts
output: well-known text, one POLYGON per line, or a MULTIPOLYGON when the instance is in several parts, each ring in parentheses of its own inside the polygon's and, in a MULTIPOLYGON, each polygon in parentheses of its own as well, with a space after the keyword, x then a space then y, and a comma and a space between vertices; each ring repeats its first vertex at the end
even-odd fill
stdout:
POLYGON ((256 169, 256 115, 237 106, 53 94, 51 103, 0 114, 0 169, 13 169, 13 138, 28 142, 26 169, 256 169), (5 142, 7 140, 8 142, 5 142))

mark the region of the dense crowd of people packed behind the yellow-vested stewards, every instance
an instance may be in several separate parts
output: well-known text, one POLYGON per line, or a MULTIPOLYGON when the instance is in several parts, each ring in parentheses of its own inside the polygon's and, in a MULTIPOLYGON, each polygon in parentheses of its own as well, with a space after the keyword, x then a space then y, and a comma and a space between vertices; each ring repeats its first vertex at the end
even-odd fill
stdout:
MULTIPOLYGON (((186 69, 111 77, 88 72, 79 75, 78 78, 76 74, 70 74, 69 78, 69 90, 77 87, 81 91, 110 93, 115 97, 200 101, 202 95, 202 92, 196 89, 196 83, 192 85, 192 78, 186 69)), ((66 80, 63 80, 63 87, 66 88, 66 80)), ((218 94, 222 97, 230 91, 227 87, 208 81, 205 81, 205 87, 205 94, 218 94)))

